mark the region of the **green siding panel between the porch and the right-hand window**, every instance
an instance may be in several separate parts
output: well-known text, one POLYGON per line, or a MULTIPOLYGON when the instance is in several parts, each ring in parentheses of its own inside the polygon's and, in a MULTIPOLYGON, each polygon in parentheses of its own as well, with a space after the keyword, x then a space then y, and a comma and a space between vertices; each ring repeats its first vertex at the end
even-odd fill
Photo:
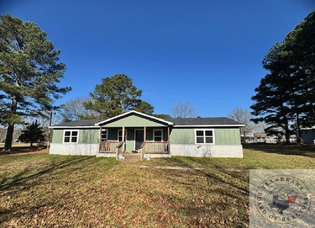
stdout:
POLYGON ((195 144, 194 129, 173 129, 170 134, 171 144, 195 144))

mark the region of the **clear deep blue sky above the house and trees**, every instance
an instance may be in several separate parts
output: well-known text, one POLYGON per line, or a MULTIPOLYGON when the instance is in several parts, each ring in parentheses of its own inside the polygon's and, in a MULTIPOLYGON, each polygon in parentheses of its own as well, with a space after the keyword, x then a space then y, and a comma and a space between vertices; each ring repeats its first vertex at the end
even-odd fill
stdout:
POLYGON ((249 109, 263 57, 313 0, 10 0, 0 14, 35 22, 67 65, 56 105, 124 73, 155 113, 188 100, 199 116, 249 109))

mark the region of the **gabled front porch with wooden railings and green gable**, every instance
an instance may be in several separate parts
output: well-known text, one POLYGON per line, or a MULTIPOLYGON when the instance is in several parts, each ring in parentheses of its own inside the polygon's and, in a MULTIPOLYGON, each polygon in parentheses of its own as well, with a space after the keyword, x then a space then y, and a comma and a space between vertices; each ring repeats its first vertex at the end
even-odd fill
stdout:
POLYGON ((109 118, 95 125, 99 131, 99 153, 119 154, 133 152, 141 154, 169 155, 169 136, 173 123, 130 111, 109 118))

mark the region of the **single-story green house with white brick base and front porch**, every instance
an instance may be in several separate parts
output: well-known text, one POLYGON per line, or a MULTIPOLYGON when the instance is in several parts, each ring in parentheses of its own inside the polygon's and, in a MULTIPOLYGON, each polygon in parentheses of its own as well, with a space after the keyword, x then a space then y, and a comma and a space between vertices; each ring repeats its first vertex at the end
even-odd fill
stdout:
POLYGON ((242 126, 225 117, 160 119, 129 111, 106 120, 76 120, 50 127, 49 153, 243 158, 242 126))

